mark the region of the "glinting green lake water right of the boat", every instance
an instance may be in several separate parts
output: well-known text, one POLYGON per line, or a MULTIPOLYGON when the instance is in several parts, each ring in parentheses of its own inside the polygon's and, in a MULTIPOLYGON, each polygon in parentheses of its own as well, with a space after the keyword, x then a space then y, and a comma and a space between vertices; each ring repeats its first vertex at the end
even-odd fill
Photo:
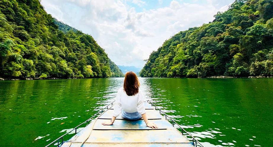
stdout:
POLYGON ((204 146, 270 146, 273 79, 141 81, 147 98, 204 146))

